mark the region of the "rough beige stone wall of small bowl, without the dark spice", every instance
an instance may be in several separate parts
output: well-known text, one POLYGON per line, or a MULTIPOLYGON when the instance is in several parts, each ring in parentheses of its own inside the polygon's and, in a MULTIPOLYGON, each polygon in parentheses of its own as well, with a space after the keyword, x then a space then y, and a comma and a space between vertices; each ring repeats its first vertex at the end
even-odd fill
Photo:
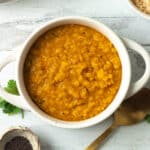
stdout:
POLYGON ((4 150, 6 143, 16 136, 25 137, 30 142, 33 150, 41 150, 38 137, 30 129, 20 126, 11 127, 4 131, 0 136, 0 150, 4 150))

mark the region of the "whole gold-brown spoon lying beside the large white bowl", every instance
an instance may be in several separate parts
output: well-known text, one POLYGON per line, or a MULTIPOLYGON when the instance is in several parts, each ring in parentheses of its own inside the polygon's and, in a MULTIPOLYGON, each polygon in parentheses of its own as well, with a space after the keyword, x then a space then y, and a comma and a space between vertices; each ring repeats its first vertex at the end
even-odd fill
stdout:
POLYGON ((142 121, 149 112, 150 89, 144 88, 122 103, 119 109, 114 113, 113 124, 102 135, 94 140, 86 150, 96 150, 114 129, 119 126, 136 124, 142 121))

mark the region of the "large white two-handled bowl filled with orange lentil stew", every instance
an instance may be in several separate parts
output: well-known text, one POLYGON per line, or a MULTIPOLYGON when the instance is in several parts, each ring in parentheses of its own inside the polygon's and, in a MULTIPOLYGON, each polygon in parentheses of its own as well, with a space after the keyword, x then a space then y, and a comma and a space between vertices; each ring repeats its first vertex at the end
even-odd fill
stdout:
POLYGON ((54 19, 37 29, 2 69, 17 61, 20 96, 1 95, 48 123, 83 128, 102 122, 149 79, 150 58, 136 42, 120 39, 104 24, 85 17, 54 19), (127 48, 145 61, 145 72, 131 82, 127 48), (21 101, 22 100, 22 101, 21 101))

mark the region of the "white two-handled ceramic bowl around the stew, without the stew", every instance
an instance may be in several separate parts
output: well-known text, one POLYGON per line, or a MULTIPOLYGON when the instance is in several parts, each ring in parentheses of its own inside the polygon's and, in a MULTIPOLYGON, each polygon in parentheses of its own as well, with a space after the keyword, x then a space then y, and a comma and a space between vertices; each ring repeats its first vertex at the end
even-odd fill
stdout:
POLYGON ((139 91, 149 80, 150 76, 150 57, 148 52, 146 52, 144 48, 142 48, 139 44, 129 39, 124 40, 120 39, 110 28, 108 28, 104 24, 85 17, 77 17, 77 16, 62 17, 46 23, 45 25, 43 25, 41 28, 38 28, 35 32, 33 32, 30 35, 30 37, 26 40, 22 48, 19 49, 19 55, 17 55, 16 53, 17 52, 11 53, 8 56, 8 58, 5 58, 2 60, 2 62, 0 62, 0 71, 11 61, 14 60, 17 61, 16 81, 20 96, 11 95, 5 92, 1 86, 0 86, 0 95, 14 105, 29 109, 37 116, 39 116, 42 120, 47 121, 51 125, 63 128, 83 128, 102 122, 116 111, 116 109, 119 107, 119 105, 127 96, 131 96, 135 94, 137 91, 139 91), (114 44, 115 48, 118 51, 122 64, 122 81, 118 93, 116 94, 112 103, 102 113, 83 121, 63 121, 57 118, 53 118, 52 116, 49 116, 46 113, 44 113, 31 100, 28 92, 26 91, 23 80, 24 61, 28 51, 30 50, 30 47, 33 45, 36 39, 40 37, 43 33, 54 27, 64 24, 85 25, 104 34, 114 44), (145 61, 145 72, 143 76, 135 83, 131 82, 133 68, 131 68, 131 61, 129 58, 129 54, 127 52, 127 48, 130 48, 139 53, 145 61))

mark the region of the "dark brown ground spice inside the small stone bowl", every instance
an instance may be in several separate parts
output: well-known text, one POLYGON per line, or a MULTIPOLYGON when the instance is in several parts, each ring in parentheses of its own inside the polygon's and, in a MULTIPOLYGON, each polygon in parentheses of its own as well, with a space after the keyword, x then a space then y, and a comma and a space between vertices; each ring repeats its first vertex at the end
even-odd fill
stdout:
POLYGON ((33 150, 33 148, 25 137, 16 136, 6 143, 4 150, 33 150))

